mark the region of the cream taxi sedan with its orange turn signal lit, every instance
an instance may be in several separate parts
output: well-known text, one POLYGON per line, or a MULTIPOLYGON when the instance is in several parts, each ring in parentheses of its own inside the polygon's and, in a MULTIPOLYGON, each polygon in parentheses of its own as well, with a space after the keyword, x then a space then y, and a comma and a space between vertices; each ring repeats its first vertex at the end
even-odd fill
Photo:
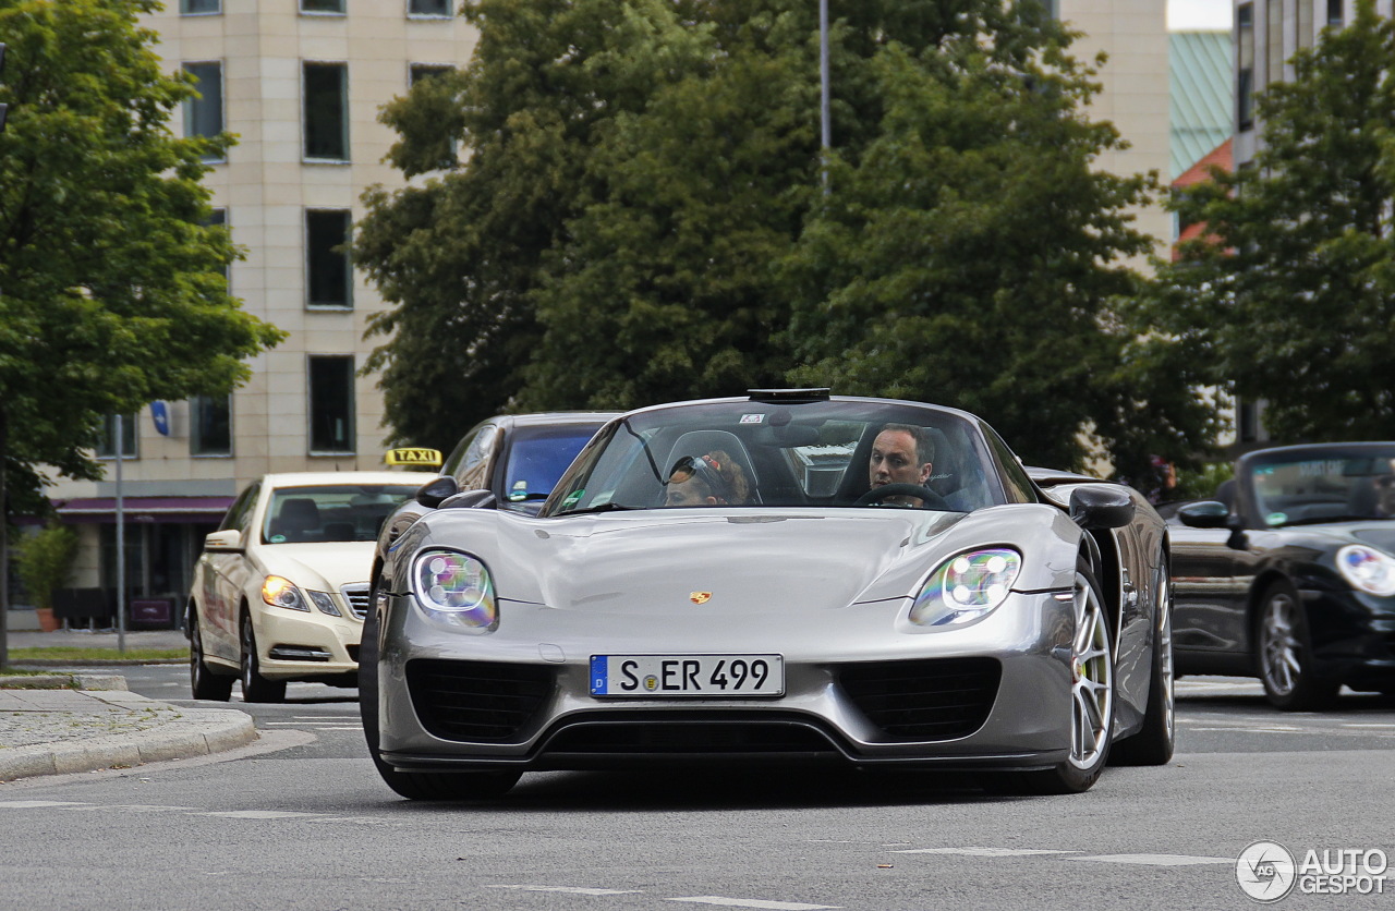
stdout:
POLYGON ((265 474, 204 543, 187 604, 194 699, 280 702, 289 681, 357 685, 382 522, 431 473, 265 474))

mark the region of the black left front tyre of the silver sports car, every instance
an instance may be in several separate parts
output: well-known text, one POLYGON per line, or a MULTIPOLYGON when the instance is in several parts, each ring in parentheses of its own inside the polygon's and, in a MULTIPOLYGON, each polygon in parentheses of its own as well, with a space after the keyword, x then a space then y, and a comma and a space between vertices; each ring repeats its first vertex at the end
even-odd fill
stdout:
POLYGON ((382 781, 410 801, 481 801, 502 797, 518 784, 520 771, 398 771, 378 751, 378 583, 368 592, 368 614, 359 645, 359 714, 368 755, 382 781))

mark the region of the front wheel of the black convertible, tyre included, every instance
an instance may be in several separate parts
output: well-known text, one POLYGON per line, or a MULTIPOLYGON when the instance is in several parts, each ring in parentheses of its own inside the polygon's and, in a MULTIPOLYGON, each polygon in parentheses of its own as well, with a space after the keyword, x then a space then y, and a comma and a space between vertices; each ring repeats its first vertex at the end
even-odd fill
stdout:
POLYGON ((1342 682, 1318 677, 1307 614, 1297 592, 1276 582, 1264 593, 1254 629, 1260 682, 1269 705, 1285 712, 1321 709, 1336 698, 1342 682))

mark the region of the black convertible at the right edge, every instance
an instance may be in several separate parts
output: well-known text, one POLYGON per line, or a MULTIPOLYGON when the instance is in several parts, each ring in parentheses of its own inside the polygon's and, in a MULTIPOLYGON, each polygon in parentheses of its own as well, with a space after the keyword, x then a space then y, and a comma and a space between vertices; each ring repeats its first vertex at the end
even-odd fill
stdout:
POLYGON ((1172 530, 1176 671, 1279 709, 1395 693, 1395 442, 1261 449, 1172 530))

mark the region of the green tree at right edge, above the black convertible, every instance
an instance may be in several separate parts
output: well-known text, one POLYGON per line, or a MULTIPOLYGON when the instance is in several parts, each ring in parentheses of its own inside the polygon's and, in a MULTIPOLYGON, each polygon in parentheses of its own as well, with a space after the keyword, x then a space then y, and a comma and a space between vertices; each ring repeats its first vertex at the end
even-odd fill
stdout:
POLYGON ((1288 441, 1395 434, 1395 25, 1356 4, 1257 99, 1253 166, 1179 195, 1209 237, 1159 271, 1140 356, 1265 400, 1288 441))

